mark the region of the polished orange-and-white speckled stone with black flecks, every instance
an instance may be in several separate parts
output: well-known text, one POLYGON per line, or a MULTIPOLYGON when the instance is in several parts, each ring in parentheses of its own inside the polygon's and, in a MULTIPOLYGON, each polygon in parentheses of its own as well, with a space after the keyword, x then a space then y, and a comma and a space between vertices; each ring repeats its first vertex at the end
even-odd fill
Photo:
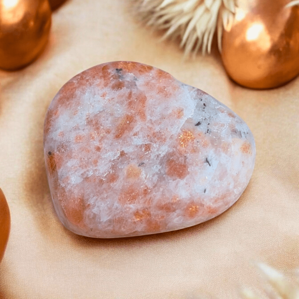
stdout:
POLYGON ((207 93, 137 62, 69 80, 44 127, 57 215, 76 234, 129 237, 196 225, 247 186, 255 144, 245 122, 207 93))

